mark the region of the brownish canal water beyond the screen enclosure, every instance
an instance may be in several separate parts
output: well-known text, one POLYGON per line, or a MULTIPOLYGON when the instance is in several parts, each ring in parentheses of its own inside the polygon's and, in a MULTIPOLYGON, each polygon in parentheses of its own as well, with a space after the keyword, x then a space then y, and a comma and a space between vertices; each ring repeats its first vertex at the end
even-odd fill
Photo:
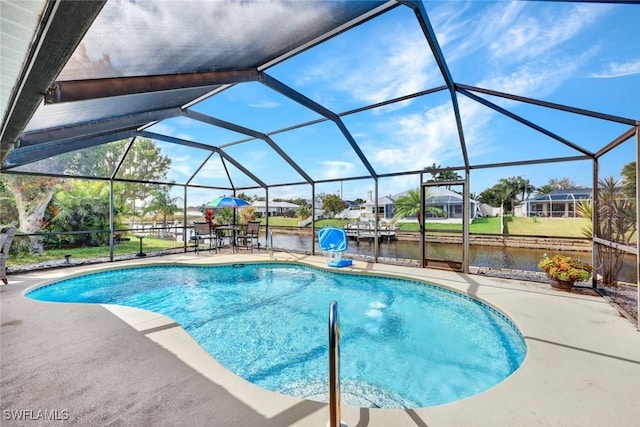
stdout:
MULTIPOLYGON (((276 235, 273 238, 274 246, 278 249, 294 251, 311 251, 311 237, 297 235, 276 235)), ((429 243, 427 246, 429 258, 462 260, 462 246, 444 243, 429 243)), ((471 246, 469 251, 469 263, 476 267, 510 268, 514 270, 540 271, 538 261, 542 258, 545 249, 505 248, 500 246, 471 246)), ((316 253, 320 254, 320 248, 316 244, 316 253)), ((362 242, 356 244, 349 241, 346 253, 373 256, 373 243, 362 242)), ((572 258, 585 262, 591 262, 591 252, 571 252, 572 258)), ((379 245, 379 256, 384 258, 420 259, 418 242, 404 240, 383 241, 379 245)), ((625 282, 636 281, 635 257, 625 257, 625 262, 620 272, 619 280, 625 282)))

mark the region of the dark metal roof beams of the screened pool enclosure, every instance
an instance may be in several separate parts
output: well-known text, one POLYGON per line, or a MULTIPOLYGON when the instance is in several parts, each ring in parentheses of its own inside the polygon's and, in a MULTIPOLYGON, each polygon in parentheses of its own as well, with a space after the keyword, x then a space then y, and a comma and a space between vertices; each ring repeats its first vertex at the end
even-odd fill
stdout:
MULTIPOLYGON (((567 0, 567 2, 570 1, 567 0)), ((635 138, 636 140, 636 164, 638 164, 638 145, 640 145, 640 143, 638 142, 638 140, 640 139, 640 118, 620 117, 612 114, 590 111, 587 109, 581 109, 568 105, 508 94, 487 88, 480 88, 456 81, 456 79, 451 74, 451 71, 449 70, 447 59, 442 52, 438 38, 430 22, 428 13, 421 1, 380 1, 371 3, 366 7, 362 6, 363 12, 358 16, 351 16, 349 17, 349 19, 345 18, 340 22, 340 25, 327 29, 324 33, 318 34, 317 36, 304 41, 304 43, 301 43, 300 45, 295 46, 286 52, 282 52, 278 56, 250 58, 252 62, 256 63, 253 67, 245 67, 235 70, 196 71, 193 73, 182 74, 178 73, 167 75, 147 75, 138 77, 124 76, 116 78, 76 81, 56 81, 56 78, 73 54, 74 49, 76 48, 76 46, 78 46, 84 35, 91 28, 94 20, 103 10, 106 3, 106 1, 84 2, 53 0, 46 3, 45 10, 42 14, 42 20, 34 34, 34 43, 32 43, 30 51, 27 52, 27 60, 24 65, 22 75, 15 84, 9 108, 7 108, 5 116, 3 118, 0 134, 0 160, 2 161, 0 171, 2 173, 30 174, 24 171, 26 166, 36 161, 51 157, 53 155, 93 147, 119 139, 131 139, 131 141, 134 141, 136 137, 148 137, 172 144, 178 144, 185 147, 194 147, 208 151, 210 154, 200 165, 196 167, 195 174, 197 174, 197 172, 201 170, 201 168, 204 166, 204 164, 212 154, 219 154, 223 159, 223 162, 229 162, 256 183, 255 186, 236 186, 231 181, 231 177, 229 177, 230 185, 225 189, 231 190, 234 193, 238 190, 242 191, 261 188, 268 194, 269 188, 286 185, 306 184, 310 185, 312 197, 315 197, 316 185, 318 184, 346 180, 370 179, 373 180, 376 187, 377 201, 379 179, 403 175, 416 175, 418 176, 418 178, 416 179, 416 185, 420 185, 420 183, 422 182, 422 173, 424 173, 424 170, 380 173, 374 168, 370 160, 362 151, 360 145, 358 144, 357 138, 353 136, 351 130, 347 125, 345 125, 342 118, 351 114, 372 110, 397 102, 402 102, 404 100, 429 96, 430 94, 444 90, 447 90, 449 92, 449 96, 451 99, 451 105, 454 112, 458 134, 458 143, 460 145, 460 151, 463 159, 461 165, 456 165, 453 168, 447 169, 454 169, 465 172, 465 193, 468 193, 469 181, 472 179, 473 170, 476 169, 516 165, 533 165, 574 160, 593 161, 592 176, 593 181, 596 184, 594 185, 595 189, 597 187, 598 159, 632 138, 635 138), (440 70, 442 78, 445 82, 444 85, 432 87, 430 89, 416 92, 410 95, 405 95, 395 99, 390 99, 338 113, 318 104, 307 95, 296 91, 292 87, 286 85, 285 83, 268 74, 268 69, 273 67, 274 65, 286 61, 287 59, 301 52, 304 52, 311 47, 321 44, 345 31, 348 31, 364 22, 367 22, 370 19, 394 10, 397 7, 410 8, 415 14, 416 20, 419 23, 425 40, 427 41, 431 50, 430 53, 433 55, 438 69, 440 70), (304 107, 305 109, 315 112, 320 116, 320 118, 265 133, 256 129, 250 129, 238 123, 232 123, 226 120, 202 114, 192 109, 192 106, 197 101, 214 97, 217 93, 233 87, 233 85, 243 84, 244 82, 260 83, 270 90, 284 95, 285 97, 304 107), (163 99, 166 100, 173 99, 175 97, 175 102, 173 104, 171 102, 168 102, 168 104, 164 105, 162 108, 158 108, 155 104, 147 105, 146 108, 143 108, 142 110, 134 109, 135 111, 123 113, 121 115, 112 115, 100 120, 89 120, 84 122, 78 121, 70 124, 62 124, 53 128, 37 129, 34 131, 25 132, 25 129, 27 129, 27 127, 29 126, 30 120, 43 101, 46 103, 52 103, 51 105, 56 105, 58 103, 64 103, 67 101, 83 102, 81 100, 85 100, 86 102, 100 102, 99 100, 104 99, 108 102, 121 103, 124 106, 128 103, 128 100, 131 99, 129 97, 135 97, 138 95, 142 96, 149 93, 156 94, 158 97, 163 97, 163 99), (559 144, 575 150, 577 154, 575 156, 544 158, 527 161, 472 164, 469 160, 468 147, 464 134, 464 124, 462 122, 458 105, 459 95, 463 95, 467 99, 480 103, 492 109, 493 111, 500 113, 503 116, 522 123, 523 125, 527 126, 530 129, 533 129, 536 132, 542 133, 547 137, 557 141, 559 144), (495 96, 553 110, 560 110, 572 114, 578 114, 585 117, 591 117, 609 121, 612 123, 626 125, 629 126, 629 128, 612 141, 607 141, 606 144, 602 146, 602 148, 593 152, 584 147, 581 147, 574 141, 555 134, 544 126, 536 124, 507 110, 506 108, 496 105, 495 103, 482 97, 482 95, 495 96), (221 144, 220 146, 213 146, 198 141, 189 141, 183 138, 161 135, 146 130, 146 128, 151 124, 175 117, 183 117, 186 119, 206 123, 210 126, 216 126, 238 132, 246 135, 246 138, 227 144, 221 144), (314 180, 309 175, 309 173, 305 171, 304 168, 301 167, 298 163, 296 163, 287 154, 286 150, 282 149, 272 138, 274 135, 279 133, 291 131, 294 129, 300 129, 302 127, 311 126, 321 122, 332 122, 333 125, 340 131, 340 133, 349 144, 349 147, 362 162, 362 165, 364 165, 364 168, 367 171, 367 175, 338 178, 333 180, 314 180), (281 157, 281 159, 300 176, 300 181, 280 184, 270 183, 268 182, 268 180, 255 175, 251 170, 245 168, 241 160, 230 155, 225 150, 225 148, 256 139, 264 141, 271 149, 273 149, 281 157)), ((628 2, 614 1, 609 3, 628 2)), ((144 99, 150 100, 152 98, 151 96, 149 96, 149 98, 144 99)), ((111 177, 104 178, 68 175, 53 176, 92 180, 104 179, 111 182, 123 181, 116 178, 116 171, 114 171, 111 177)), ((193 184, 192 181, 195 177, 195 174, 191 176, 191 178, 187 182, 184 183, 176 184, 167 182, 158 184, 184 186, 185 194, 186 189, 189 187, 214 188, 193 184)), ((640 214, 638 214, 638 220, 640 221, 640 214)), ((468 236, 466 237, 468 238, 468 236)), ((640 242, 638 242, 638 244, 640 244, 640 242)), ((594 241, 594 247, 595 245, 596 242, 594 241)), ((374 253, 377 260, 377 244, 375 245, 374 253)), ((468 269, 468 261, 466 261, 466 264, 466 269, 468 269)))

